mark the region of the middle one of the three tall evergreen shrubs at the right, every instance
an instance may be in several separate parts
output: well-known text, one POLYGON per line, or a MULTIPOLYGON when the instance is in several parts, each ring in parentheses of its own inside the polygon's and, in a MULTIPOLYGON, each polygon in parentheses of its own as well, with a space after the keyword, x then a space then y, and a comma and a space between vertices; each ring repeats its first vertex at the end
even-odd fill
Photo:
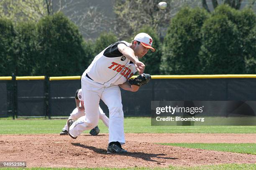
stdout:
POLYGON ((202 73, 241 74, 243 57, 239 49, 238 30, 225 15, 215 15, 202 28, 200 60, 202 73))

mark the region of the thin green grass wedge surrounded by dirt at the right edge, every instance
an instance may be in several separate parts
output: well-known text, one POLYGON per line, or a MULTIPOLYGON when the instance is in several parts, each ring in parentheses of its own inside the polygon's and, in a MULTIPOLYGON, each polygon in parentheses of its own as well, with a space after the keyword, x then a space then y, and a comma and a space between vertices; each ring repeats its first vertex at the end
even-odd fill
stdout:
POLYGON ((185 148, 199 148, 233 153, 247 153, 256 155, 256 143, 160 143, 161 145, 179 146, 185 148))

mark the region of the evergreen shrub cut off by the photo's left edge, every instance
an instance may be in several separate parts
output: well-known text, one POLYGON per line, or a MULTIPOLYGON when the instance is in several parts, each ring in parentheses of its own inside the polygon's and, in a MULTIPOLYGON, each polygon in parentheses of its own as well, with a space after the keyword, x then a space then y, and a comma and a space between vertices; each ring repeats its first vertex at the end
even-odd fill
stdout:
POLYGON ((0 18, 0 76, 16 72, 15 37, 11 20, 0 18))

